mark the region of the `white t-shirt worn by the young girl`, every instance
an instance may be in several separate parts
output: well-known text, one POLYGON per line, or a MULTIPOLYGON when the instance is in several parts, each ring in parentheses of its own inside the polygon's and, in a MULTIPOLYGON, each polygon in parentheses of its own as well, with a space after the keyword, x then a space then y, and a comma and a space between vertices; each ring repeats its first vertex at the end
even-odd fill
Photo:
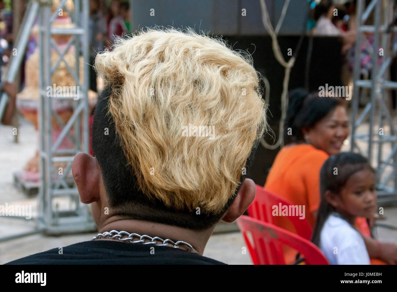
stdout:
POLYGON ((370 265, 360 233, 332 213, 321 230, 320 249, 331 265, 370 265))

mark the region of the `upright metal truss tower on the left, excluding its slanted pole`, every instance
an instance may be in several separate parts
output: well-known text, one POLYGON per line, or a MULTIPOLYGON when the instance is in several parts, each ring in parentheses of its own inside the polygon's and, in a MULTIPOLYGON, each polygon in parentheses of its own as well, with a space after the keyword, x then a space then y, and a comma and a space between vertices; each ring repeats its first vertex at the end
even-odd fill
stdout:
POLYGON ((88 84, 89 84, 89 1, 74 0, 74 11, 68 11, 65 5, 66 0, 62 0, 60 6, 51 15, 51 2, 42 2, 39 13, 39 46, 40 46, 40 104, 39 104, 39 128, 40 128, 40 171, 41 184, 39 191, 39 218, 44 225, 47 234, 60 234, 67 232, 83 232, 95 230, 92 216, 89 214, 87 205, 83 205, 79 199, 79 192, 73 183, 67 184, 66 178, 71 173, 71 164, 74 156, 79 152, 88 153, 89 151, 89 116, 88 116, 88 84), (46 5, 47 4, 47 5, 46 5), (73 23, 72 28, 54 28, 52 23, 58 16, 60 9, 66 10, 73 23), (63 51, 58 46, 52 36, 66 34, 71 35, 63 51), (73 70, 64 55, 71 45, 75 46, 75 66, 73 70), (83 52, 84 62, 84 83, 79 81, 79 56, 80 48, 83 52), (51 64, 51 51, 56 51, 59 59, 55 64, 51 64), (51 76, 58 64, 64 62, 69 73, 73 76, 78 96, 63 95, 48 97, 47 87, 52 87, 51 76), (62 119, 52 107, 53 99, 73 99, 73 114, 64 124, 62 119), (52 117, 56 119, 62 127, 60 135, 56 141, 52 142, 52 117), (82 129, 82 133, 81 133, 82 129), (73 149, 58 149, 62 140, 68 137, 73 141, 73 149), (62 174, 54 168, 54 162, 66 163, 66 168, 62 174), (60 210, 56 199, 66 197, 69 200, 69 208, 60 210))

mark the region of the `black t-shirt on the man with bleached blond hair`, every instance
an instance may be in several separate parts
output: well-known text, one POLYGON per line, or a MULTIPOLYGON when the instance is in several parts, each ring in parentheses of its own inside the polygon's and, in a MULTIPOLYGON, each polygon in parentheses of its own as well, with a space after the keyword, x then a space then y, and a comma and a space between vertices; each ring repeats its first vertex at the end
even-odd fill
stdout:
POLYGON ((53 248, 6 265, 225 265, 178 248, 111 240, 80 242, 63 247, 62 254, 60 251, 53 248))

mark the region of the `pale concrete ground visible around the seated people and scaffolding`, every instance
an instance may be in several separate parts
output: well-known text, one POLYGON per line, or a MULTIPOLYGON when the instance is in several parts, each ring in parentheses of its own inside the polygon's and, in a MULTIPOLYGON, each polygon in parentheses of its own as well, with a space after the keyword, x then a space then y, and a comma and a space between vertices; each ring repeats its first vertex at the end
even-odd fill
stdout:
MULTIPOLYGON (((37 149, 37 133, 33 126, 20 119, 18 127, 19 143, 13 142, 12 127, 0 125, 0 205, 5 203, 18 205, 32 205, 35 213, 36 199, 28 198, 12 184, 12 174, 20 171, 25 163, 33 157, 37 149)), ((61 202, 62 204, 62 202, 61 202)), ((385 207, 383 223, 397 226, 397 208, 385 207)), ((0 217, 0 238, 12 234, 33 230, 34 220, 20 220, 0 217)), ((226 225, 218 226, 225 229, 226 225)), ((236 230, 235 225, 227 228, 236 230)), ((397 242, 397 231, 377 228, 378 238, 382 241, 397 242)), ((6 242, 0 242, 0 264, 14 259, 38 253, 51 248, 67 246, 69 244, 91 240, 95 233, 71 234, 63 236, 44 236, 34 234, 6 242)), ((213 234, 208 241, 204 256, 228 264, 252 264, 249 252, 242 253, 245 242, 239 232, 213 234)))

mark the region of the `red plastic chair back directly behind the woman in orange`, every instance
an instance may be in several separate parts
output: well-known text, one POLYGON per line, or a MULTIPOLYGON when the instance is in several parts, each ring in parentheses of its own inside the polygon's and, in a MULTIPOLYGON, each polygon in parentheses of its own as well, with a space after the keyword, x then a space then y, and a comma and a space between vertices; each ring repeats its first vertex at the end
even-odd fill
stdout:
MULTIPOLYGON (((287 199, 284 199, 283 197, 280 197, 275 193, 272 193, 271 191, 265 190, 257 184, 255 186, 255 199, 247 209, 248 215, 254 219, 274 224, 274 216, 272 215, 272 207, 274 205, 279 206, 279 203, 281 203, 281 205, 287 206, 295 205, 287 199)), ((298 216, 285 217, 287 217, 291 221, 299 236, 303 237, 304 239, 310 240, 312 236, 312 227, 310 226, 310 223, 306 218, 299 219, 298 216)))

